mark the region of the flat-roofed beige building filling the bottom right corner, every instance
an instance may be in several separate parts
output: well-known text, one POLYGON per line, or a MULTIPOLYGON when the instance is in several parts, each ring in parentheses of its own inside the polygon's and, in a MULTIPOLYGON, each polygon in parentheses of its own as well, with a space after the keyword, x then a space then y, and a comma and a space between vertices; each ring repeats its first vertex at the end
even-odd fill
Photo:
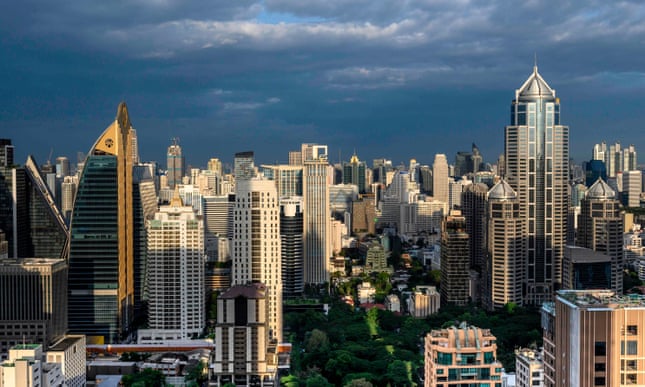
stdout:
POLYGON ((645 297, 561 290, 542 316, 545 386, 645 385, 645 297))

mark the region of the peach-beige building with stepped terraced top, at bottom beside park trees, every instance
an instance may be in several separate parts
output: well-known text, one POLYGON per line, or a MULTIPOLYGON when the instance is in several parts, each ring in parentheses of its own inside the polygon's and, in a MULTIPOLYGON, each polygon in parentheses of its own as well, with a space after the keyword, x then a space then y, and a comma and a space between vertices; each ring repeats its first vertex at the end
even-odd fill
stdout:
POLYGON ((462 323, 425 338, 425 386, 501 386, 497 338, 488 329, 462 323))

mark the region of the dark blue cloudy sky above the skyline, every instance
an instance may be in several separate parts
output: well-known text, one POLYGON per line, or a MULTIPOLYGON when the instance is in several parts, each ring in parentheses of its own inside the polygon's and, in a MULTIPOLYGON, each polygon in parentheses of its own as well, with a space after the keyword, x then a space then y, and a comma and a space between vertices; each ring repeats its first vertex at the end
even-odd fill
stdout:
POLYGON ((370 165, 474 142, 493 163, 537 61, 576 161, 645 152, 643 20, 640 1, 24 0, 0 13, 0 137, 18 163, 76 161, 125 101, 162 166, 172 138, 196 167, 303 142, 370 165))

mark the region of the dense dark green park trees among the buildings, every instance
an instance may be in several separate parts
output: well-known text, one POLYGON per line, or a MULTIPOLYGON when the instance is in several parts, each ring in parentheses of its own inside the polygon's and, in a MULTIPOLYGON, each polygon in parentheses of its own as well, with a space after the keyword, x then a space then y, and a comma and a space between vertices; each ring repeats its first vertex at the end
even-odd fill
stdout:
POLYGON ((288 387, 421 385, 425 334, 462 321, 491 329, 497 337, 497 357, 507 371, 515 368, 515 348, 541 345, 539 312, 512 304, 494 313, 475 305, 447 306, 417 319, 334 302, 327 315, 314 310, 285 315, 293 351, 291 374, 281 383, 288 387))

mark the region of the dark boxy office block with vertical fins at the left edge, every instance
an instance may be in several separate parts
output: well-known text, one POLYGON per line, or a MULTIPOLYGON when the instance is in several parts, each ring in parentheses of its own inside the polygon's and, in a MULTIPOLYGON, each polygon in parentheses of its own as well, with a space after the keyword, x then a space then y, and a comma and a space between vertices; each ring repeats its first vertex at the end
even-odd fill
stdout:
POLYGON ((67 264, 62 259, 0 261, 0 356, 28 338, 49 344, 67 330, 67 264))

